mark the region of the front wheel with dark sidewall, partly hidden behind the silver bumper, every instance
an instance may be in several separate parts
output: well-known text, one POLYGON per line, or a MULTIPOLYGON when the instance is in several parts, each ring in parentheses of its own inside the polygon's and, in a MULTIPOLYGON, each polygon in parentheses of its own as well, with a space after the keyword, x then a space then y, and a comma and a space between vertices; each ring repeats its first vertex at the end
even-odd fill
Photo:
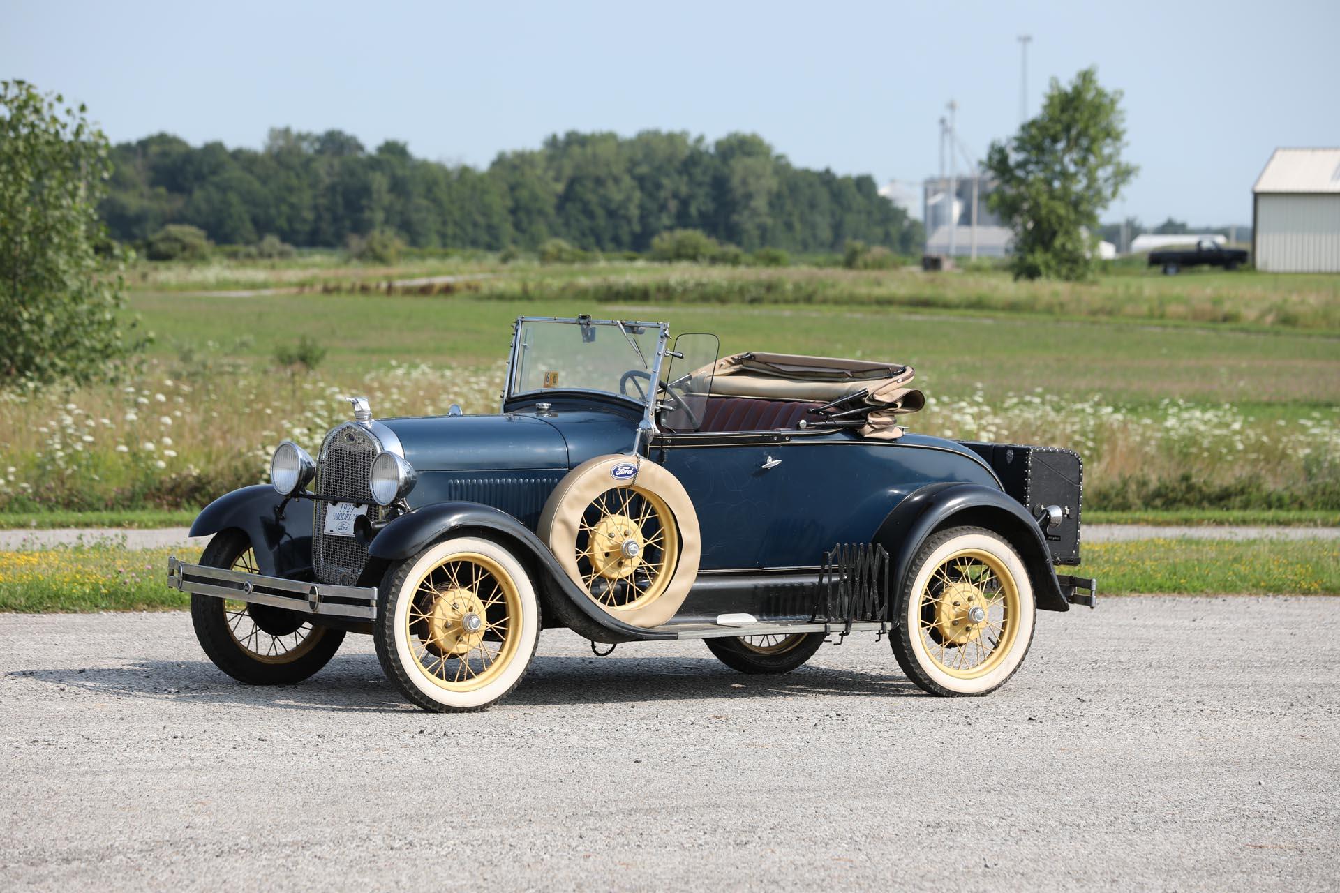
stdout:
MULTIPOLYGON (((251 540, 224 530, 205 546, 206 568, 260 573, 251 540)), ((342 629, 314 625, 306 615, 232 598, 193 594, 190 621, 214 665, 248 685, 292 685, 330 663, 344 641, 342 629)))

